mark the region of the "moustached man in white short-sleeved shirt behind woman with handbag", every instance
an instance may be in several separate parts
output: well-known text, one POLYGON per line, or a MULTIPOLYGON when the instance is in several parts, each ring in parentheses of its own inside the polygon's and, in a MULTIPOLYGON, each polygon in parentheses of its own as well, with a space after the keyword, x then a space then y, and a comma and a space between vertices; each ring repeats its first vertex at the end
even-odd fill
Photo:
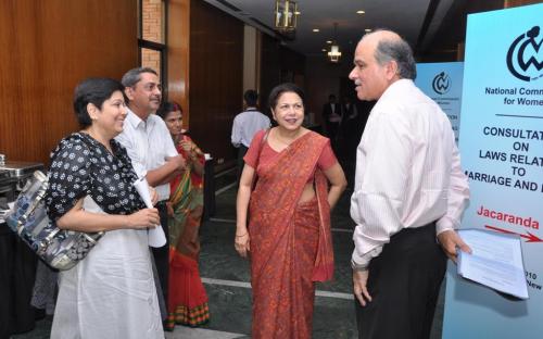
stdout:
POLYGON ((167 303, 169 233, 166 202, 169 199, 169 181, 184 171, 186 163, 177 153, 166 124, 154 114, 162 100, 156 72, 149 67, 132 68, 125 73, 121 81, 128 99, 128 114, 123 133, 116 140, 126 148, 138 177, 147 178, 159 196, 155 208, 161 216, 166 244, 152 250, 164 301, 167 303))

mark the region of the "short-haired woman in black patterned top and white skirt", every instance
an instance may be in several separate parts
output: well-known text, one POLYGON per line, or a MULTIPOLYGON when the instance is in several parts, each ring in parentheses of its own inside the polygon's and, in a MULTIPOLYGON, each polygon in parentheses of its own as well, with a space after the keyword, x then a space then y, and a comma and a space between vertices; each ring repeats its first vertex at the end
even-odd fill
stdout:
POLYGON ((147 234, 159 213, 144 208, 130 159, 113 139, 126 117, 123 86, 87 79, 74 109, 83 129, 51 154, 48 214, 60 228, 105 234, 61 273, 51 338, 164 338, 147 234))

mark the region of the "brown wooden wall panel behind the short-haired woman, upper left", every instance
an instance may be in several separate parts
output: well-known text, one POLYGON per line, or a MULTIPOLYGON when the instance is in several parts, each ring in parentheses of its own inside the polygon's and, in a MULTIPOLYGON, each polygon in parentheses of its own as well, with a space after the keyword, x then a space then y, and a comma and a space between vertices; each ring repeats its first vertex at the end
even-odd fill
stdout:
POLYGON ((78 129, 75 85, 138 65, 137 1, 0 1, 0 153, 48 163, 78 129))

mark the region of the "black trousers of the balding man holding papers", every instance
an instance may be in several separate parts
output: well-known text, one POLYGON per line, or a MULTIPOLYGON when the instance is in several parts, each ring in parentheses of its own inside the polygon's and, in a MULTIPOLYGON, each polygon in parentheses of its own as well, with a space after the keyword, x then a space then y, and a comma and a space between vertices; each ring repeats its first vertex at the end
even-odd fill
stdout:
POLYGON ((429 338, 445 268, 434 223, 392 236, 369 263, 372 301, 363 307, 355 299, 358 338, 429 338))

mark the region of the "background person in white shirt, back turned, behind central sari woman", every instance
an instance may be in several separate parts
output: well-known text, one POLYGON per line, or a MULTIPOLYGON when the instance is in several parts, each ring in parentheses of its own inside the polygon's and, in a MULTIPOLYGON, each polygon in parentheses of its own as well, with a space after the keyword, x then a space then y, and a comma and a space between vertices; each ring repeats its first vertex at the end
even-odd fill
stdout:
POLYGON ((243 156, 253 140, 254 135, 262 129, 269 128, 269 117, 258 111, 258 93, 249 89, 243 95, 245 110, 233 118, 231 142, 238 148, 238 181, 243 170, 243 156))

